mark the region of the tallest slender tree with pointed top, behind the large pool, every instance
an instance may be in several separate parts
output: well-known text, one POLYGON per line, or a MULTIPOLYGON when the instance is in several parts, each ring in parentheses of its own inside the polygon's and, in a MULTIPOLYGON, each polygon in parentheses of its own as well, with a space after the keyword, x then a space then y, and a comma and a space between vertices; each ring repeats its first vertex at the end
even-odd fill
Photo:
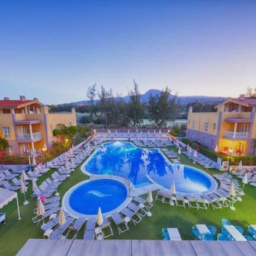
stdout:
POLYGON ((137 83, 133 79, 134 84, 134 91, 129 91, 129 103, 128 103, 128 110, 127 114, 132 122, 133 126, 137 126, 137 124, 142 122, 142 116, 143 116, 143 107, 140 103, 140 92, 137 83))

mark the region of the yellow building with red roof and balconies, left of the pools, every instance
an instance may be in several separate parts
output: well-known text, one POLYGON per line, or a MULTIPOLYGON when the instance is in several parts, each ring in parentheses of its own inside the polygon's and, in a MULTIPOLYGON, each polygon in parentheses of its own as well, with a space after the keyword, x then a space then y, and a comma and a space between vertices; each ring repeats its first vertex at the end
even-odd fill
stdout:
POLYGON ((26 100, 0 100, 0 131, 9 143, 9 151, 37 155, 43 145, 47 148, 57 140, 53 137, 53 129, 57 124, 76 125, 75 109, 68 114, 50 114, 47 105, 37 98, 26 100))

